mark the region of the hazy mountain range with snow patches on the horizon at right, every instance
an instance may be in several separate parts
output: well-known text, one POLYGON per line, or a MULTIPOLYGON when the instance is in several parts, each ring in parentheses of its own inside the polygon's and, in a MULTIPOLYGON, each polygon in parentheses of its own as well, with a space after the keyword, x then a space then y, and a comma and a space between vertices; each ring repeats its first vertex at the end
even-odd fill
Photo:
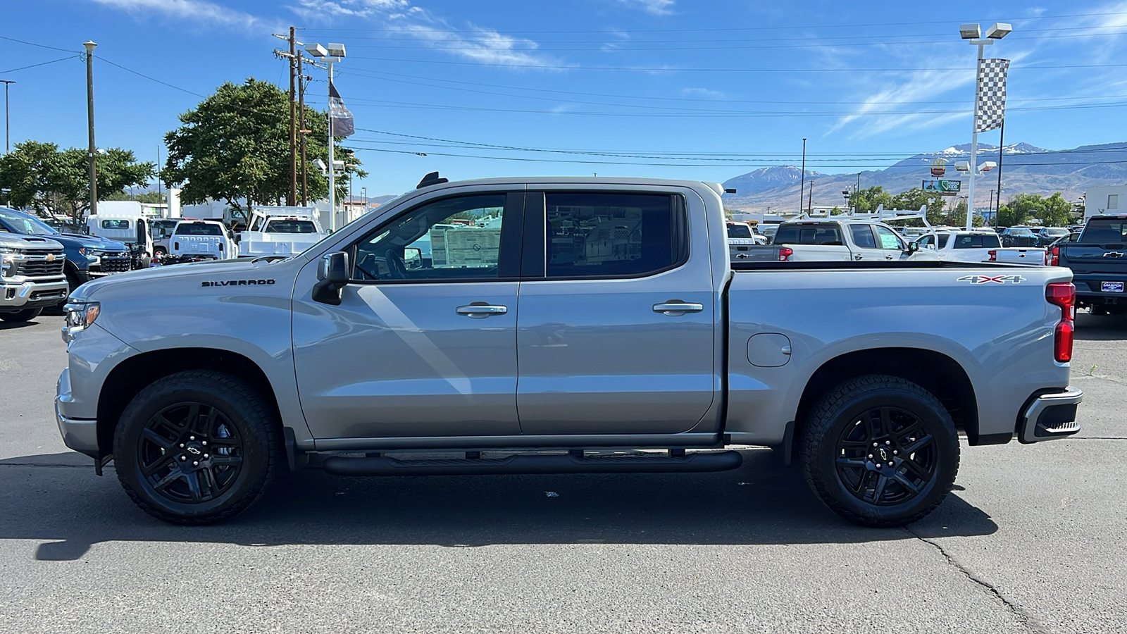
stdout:
MULTIPOLYGON (((937 151, 905 158, 885 169, 860 173, 861 188, 880 185, 893 194, 919 187, 923 180, 935 178, 931 164, 937 158, 947 159, 946 179, 962 180, 962 195, 967 191, 967 176, 955 170, 956 160, 970 158, 970 144, 952 146, 937 151)), ((1071 150, 1047 150, 1030 143, 1006 146, 1000 157, 997 146, 978 144, 978 162, 1002 162, 1002 200, 1017 193, 1050 195, 1063 192, 1075 201, 1088 187, 1127 184, 1127 142, 1081 146, 1071 150)), ((985 208, 991 192, 997 190, 999 171, 988 171, 975 182, 975 206, 985 208)), ((799 183, 802 170, 795 166, 764 167, 725 180, 725 206, 740 211, 792 211, 798 206, 799 183)), ((852 190, 858 173, 819 174, 806 170, 806 195, 814 183, 815 206, 846 205, 842 191, 852 190)))

